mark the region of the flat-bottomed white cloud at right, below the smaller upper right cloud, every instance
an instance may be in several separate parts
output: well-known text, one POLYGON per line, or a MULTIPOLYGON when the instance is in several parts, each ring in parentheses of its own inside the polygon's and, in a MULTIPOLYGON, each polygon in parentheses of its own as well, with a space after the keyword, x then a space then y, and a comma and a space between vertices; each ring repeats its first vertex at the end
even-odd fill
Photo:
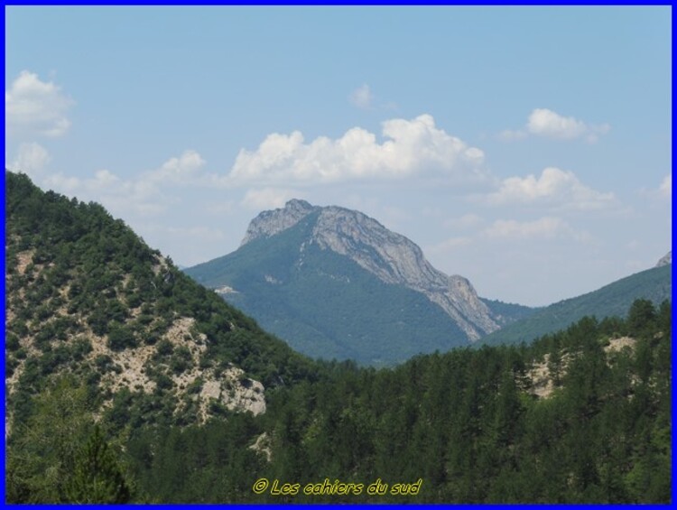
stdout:
POLYGON ((616 202, 613 193, 585 186, 573 172, 549 167, 540 177, 509 177, 486 196, 492 205, 541 204, 563 209, 603 209, 616 202))

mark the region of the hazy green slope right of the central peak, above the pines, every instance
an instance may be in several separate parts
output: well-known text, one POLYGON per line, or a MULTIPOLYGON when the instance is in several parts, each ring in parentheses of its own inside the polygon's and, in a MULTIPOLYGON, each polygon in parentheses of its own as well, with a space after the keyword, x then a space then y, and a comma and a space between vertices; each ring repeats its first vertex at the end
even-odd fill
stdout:
POLYGON ((598 319, 625 317, 630 305, 639 298, 655 304, 672 299, 672 264, 632 274, 597 291, 556 302, 487 335, 480 340, 480 344, 530 342, 534 338, 565 329, 586 315, 594 315, 598 319))

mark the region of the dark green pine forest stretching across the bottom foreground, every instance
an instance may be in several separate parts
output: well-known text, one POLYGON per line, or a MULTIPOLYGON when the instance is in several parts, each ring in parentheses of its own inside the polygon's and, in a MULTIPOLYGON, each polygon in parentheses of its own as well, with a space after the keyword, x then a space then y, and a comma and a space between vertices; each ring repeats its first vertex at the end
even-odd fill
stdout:
POLYGON ((271 390, 263 415, 225 413, 203 425, 95 425, 85 389, 61 380, 12 436, 7 495, 87 502, 87 487, 103 478, 96 494, 108 502, 667 503, 670 360, 669 303, 635 301, 627 320, 585 318, 530 346, 456 349, 380 370, 322 363, 319 380, 271 390), (635 347, 606 352, 621 335, 635 347), (559 376, 552 395, 537 398, 527 374, 544 354, 559 376), (49 410, 64 400, 67 415, 49 410), (270 461, 253 448, 262 436, 270 461), (421 478, 422 488, 256 495, 258 478, 421 478))

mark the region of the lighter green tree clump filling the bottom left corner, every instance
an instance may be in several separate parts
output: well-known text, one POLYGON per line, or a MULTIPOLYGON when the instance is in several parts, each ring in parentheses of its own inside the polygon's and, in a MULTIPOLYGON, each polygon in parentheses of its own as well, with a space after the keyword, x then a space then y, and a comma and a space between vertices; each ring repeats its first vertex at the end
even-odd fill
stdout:
POLYGON ((116 453, 94 426, 87 388, 73 377, 49 385, 7 444, 8 503, 123 503, 129 485, 116 453))

